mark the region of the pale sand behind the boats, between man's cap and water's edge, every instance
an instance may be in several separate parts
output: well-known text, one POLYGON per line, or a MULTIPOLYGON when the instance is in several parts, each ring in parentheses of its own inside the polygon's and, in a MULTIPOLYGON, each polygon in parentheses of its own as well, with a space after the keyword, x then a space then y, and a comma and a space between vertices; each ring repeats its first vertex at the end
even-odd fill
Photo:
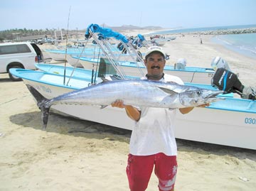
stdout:
POLYGON ((176 40, 165 45, 170 55, 168 64, 173 65, 178 58, 186 58, 188 66, 211 67, 210 63, 213 58, 219 56, 228 62, 232 72, 239 75, 242 84, 256 86, 255 59, 245 57, 226 49, 222 45, 213 43, 210 40, 213 36, 204 35, 201 38, 203 44, 200 44, 200 38, 197 35, 176 36, 176 40))

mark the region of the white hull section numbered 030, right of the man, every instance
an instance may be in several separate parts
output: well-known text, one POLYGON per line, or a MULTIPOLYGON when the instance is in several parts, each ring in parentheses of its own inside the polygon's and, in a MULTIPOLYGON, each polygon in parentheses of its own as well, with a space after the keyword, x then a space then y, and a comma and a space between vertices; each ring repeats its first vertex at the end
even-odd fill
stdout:
POLYGON ((177 114, 176 138, 224 146, 256 149, 256 114, 223 109, 195 108, 177 114))

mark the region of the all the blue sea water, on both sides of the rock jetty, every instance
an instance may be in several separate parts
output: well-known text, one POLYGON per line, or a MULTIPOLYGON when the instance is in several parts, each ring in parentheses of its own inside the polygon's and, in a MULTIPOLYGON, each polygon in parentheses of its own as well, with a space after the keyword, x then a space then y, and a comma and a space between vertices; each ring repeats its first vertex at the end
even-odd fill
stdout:
MULTIPOLYGON (((205 28, 179 28, 174 30, 159 31, 151 34, 172 34, 172 33, 194 33, 203 31, 220 31, 228 29, 256 28, 256 25, 245 26, 215 26, 205 28)), ((242 55, 256 59, 256 33, 230 34, 215 36, 214 43, 224 45, 225 48, 233 50, 242 55)))

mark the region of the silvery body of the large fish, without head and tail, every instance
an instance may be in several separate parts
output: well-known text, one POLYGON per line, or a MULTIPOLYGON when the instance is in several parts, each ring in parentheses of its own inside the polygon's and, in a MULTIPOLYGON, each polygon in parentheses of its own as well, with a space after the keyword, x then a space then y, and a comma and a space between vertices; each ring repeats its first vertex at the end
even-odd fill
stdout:
MULTIPOLYGON (((110 105, 115 100, 122 99, 124 104, 159 107, 161 100, 169 94, 152 84, 158 83, 142 80, 105 82, 56 97, 50 100, 48 105, 78 103, 110 105)), ((164 87, 162 83, 159 85, 164 87)))

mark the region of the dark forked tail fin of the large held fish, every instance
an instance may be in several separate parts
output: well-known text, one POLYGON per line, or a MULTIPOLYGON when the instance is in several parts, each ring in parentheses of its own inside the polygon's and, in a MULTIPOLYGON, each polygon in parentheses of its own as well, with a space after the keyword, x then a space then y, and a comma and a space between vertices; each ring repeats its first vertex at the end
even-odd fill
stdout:
POLYGON ((46 126, 48 123, 48 116, 49 116, 49 111, 50 107, 46 106, 46 102, 49 101, 49 99, 46 99, 43 97, 42 94, 40 94, 34 87, 32 87, 29 84, 26 84, 28 87, 29 92, 33 95, 33 97, 36 99, 37 105, 39 109, 41 109, 41 118, 43 121, 43 130, 46 130, 46 126))

